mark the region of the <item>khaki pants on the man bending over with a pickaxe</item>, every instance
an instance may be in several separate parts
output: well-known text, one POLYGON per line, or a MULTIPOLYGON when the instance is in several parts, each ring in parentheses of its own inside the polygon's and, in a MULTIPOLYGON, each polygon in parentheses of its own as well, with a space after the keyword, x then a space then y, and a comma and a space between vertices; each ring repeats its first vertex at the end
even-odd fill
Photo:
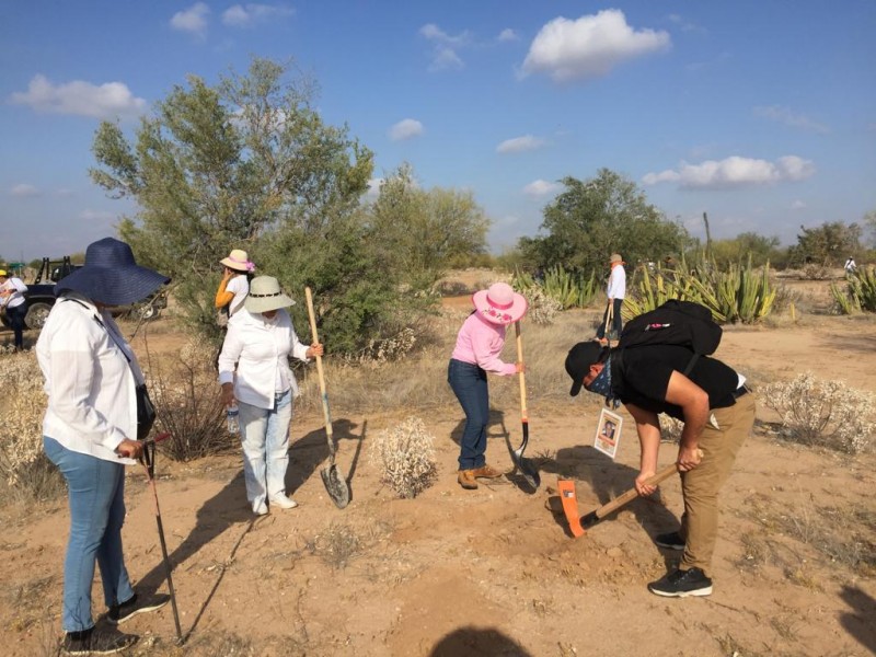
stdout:
POLYGON ((680 534, 684 541, 681 569, 701 568, 706 575, 718 533, 718 491, 751 427, 754 425, 754 396, 746 394, 733 406, 712 412, 718 428, 706 424, 700 439, 703 460, 690 472, 681 473, 684 515, 680 534))

